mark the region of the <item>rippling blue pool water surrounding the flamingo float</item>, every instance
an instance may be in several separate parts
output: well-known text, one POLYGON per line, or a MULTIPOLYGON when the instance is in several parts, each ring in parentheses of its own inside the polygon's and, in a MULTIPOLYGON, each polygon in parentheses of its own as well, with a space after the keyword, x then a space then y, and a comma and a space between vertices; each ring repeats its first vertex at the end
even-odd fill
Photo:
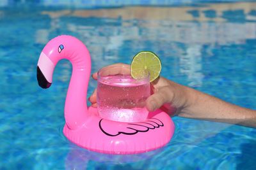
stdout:
POLYGON ((58 63, 50 89, 36 80, 45 43, 70 34, 90 50, 93 72, 150 50, 162 60, 162 76, 256 109, 255 2, 12 5, 0 5, 0 169, 256 169, 256 129, 180 117, 172 141, 154 152, 81 149, 62 134, 70 63, 58 63))

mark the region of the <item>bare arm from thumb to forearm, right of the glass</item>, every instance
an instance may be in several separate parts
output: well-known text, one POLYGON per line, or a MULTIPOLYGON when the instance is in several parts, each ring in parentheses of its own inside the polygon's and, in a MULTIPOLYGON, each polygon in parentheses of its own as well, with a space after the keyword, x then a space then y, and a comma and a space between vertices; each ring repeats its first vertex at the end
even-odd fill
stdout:
POLYGON ((154 82, 154 94, 147 99, 147 108, 156 110, 168 103, 180 117, 226 122, 256 127, 256 111, 227 103, 195 89, 159 78, 154 82))

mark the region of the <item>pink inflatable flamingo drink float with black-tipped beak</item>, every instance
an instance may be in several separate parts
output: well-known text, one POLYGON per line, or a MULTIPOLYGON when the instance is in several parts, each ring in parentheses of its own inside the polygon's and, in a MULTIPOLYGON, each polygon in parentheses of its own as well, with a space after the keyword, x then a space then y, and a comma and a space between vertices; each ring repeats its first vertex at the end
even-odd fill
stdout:
POLYGON ((40 87, 46 89, 51 86, 54 67, 61 59, 72 63, 63 129, 70 141, 88 150, 115 154, 147 152, 170 141, 174 124, 161 110, 149 113, 144 122, 129 123, 100 118, 97 108, 87 108, 91 59, 86 46, 77 38, 58 36, 45 45, 37 66, 40 87))

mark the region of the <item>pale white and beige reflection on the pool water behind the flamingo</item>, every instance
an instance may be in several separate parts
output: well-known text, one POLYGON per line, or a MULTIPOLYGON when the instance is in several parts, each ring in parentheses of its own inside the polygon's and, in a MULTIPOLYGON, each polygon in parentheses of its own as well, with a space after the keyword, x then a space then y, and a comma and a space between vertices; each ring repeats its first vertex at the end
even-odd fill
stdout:
POLYGON ((203 46, 207 45, 207 52, 211 54, 218 45, 243 44, 246 39, 255 39, 256 23, 244 23, 254 17, 254 6, 256 3, 209 4, 196 10, 192 7, 127 7, 43 11, 43 15, 51 18, 51 24, 48 29, 36 31, 35 41, 45 44, 52 37, 51 32, 65 27, 67 32, 76 32, 88 46, 97 69, 120 62, 120 58, 129 63, 140 49, 162 51, 164 56, 174 51, 173 57, 179 57, 180 64, 176 71, 188 77, 189 86, 201 87, 203 46), (239 17, 241 15, 243 17, 239 17), (230 16, 236 16, 236 22, 230 16))

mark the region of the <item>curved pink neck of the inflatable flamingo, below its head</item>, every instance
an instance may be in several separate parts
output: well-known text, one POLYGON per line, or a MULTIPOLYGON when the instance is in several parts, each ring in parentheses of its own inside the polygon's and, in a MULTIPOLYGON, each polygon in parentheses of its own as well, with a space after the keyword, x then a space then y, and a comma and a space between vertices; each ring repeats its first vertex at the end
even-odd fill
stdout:
POLYGON ((77 51, 73 52, 71 56, 65 57, 72 63, 72 76, 68 87, 64 112, 66 123, 73 130, 81 127, 86 118, 90 117, 86 104, 91 71, 90 54, 85 46, 82 50, 79 48, 77 51))

